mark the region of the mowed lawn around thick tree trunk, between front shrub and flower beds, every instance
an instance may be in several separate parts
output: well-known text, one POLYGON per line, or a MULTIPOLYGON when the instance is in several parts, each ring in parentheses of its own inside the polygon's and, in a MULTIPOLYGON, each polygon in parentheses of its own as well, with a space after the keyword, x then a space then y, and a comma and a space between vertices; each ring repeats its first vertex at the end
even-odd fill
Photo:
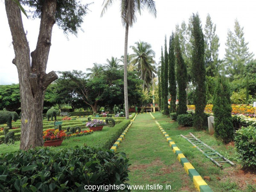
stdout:
MULTIPOLYGON (((119 123, 116 126, 122 125, 123 123, 119 123)), ((71 137, 69 139, 65 139, 61 146, 59 147, 51 147, 51 149, 58 149, 58 148, 73 148, 76 145, 83 146, 87 145, 90 147, 95 148, 103 148, 103 149, 109 149, 111 146, 106 145, 106 140, 108 140, 109 137, 111 137, 113 134, 116 133, 116 126, 115 127, 108 127, 104 126, 102 131, 95 131, 93 134, 84 135, 80 137, 71 137)), ((83 130, 89 130, 89 129, 83 129, 83 130)), ((116 136, 116 139, 119 137, 120 134, 116 136)), ((116 140, 113 140, 113 143, 116 140)), ((6 145, 1 144, 0 145, 0 154, 14 152, 19 150, 20 148, 20 141, 16 141, 14 145, 6 145)))

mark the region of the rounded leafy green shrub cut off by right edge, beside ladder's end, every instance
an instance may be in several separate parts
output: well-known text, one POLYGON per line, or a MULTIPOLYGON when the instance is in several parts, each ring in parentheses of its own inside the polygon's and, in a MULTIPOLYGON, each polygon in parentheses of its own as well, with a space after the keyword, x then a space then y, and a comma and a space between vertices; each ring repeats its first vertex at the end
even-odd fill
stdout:
POLYGON ((242 127, 236 131, 235 146, 242 165, 256 169, 256 128, 242 127))

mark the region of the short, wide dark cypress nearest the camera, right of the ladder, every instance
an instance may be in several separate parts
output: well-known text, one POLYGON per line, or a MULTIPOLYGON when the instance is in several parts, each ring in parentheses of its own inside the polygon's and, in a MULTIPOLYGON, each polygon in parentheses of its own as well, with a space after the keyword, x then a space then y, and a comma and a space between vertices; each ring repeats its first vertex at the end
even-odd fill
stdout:
POLYGON ((232 107, 230 87, 225 77, 218 77, 213 96, 215 136, 229 143, 233 139, 232 107))

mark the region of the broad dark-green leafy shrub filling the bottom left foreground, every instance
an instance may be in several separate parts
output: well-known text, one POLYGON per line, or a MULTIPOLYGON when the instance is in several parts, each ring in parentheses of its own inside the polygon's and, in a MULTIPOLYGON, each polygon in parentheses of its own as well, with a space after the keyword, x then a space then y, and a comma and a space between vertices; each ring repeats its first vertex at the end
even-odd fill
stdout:
POLYGON ((85 185, 120 185, 128 180, 129 166, 124 153, 90 147, 20 150, 3 154, 0 165, 1 191, 82 191, 85 185))

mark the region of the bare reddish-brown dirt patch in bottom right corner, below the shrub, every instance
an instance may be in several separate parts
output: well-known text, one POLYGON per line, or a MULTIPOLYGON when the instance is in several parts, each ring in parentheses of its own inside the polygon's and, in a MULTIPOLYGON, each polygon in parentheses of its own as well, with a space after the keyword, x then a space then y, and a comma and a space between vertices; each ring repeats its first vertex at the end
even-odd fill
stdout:
POLYGON ((221 178, 222 181, 235 182, 239 189, 247 189, 247 185, 255 185, 253 179, 256 179, 256 171, 241 169, 241 166, 229 167, 224 169, 226 174, 221 178))

